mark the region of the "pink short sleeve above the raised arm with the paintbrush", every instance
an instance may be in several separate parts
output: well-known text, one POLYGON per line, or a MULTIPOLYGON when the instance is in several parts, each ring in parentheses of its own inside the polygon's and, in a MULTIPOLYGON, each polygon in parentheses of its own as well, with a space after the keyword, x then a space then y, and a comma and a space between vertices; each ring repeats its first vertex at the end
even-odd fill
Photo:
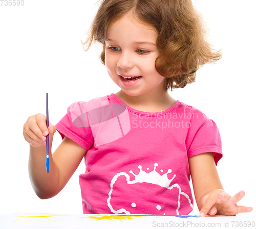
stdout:
POLYGON ((81 102, 71 104, 67 114, 55 125, 62 139, 67 136, 85 149, 93 144, 93 135, 81 102))

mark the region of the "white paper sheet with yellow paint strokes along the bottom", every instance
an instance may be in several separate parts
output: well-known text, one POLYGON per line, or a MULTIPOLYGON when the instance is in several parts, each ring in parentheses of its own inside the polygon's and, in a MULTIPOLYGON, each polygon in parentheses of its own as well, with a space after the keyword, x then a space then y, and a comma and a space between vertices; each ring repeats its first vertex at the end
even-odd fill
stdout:
POLYGON ((0 228, 255 228, 255 216, 162 216, 103 214, 0 215, 0 228))

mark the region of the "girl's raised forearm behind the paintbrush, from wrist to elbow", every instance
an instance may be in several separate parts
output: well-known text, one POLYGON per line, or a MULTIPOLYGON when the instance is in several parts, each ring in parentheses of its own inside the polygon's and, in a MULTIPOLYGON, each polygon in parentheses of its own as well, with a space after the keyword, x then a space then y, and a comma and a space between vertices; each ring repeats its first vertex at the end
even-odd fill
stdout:
POLYGON ((36 195, 41 199, 51 198, 59 192, 59 172, 50 153, 50 169, 46 171, 46 146, 30 146, 29 177, 36 195))

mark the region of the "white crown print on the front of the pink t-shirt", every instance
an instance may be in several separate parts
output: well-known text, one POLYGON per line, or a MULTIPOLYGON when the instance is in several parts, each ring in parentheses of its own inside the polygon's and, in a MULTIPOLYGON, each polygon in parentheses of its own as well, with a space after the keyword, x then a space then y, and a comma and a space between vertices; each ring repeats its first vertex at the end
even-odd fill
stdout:
MULTIPOLYGON (((168 169, 166 173, 163 175, 160 175, 156 171, 156 167, 158 166, 157 163, 154 164, 154 170, 151 172, 146 173, 142 170, 142 166, 139 165, 138 168, 140 169, 140 172, 138 175, 134 174, 134 172, 131 170, 130 172, 135 176, 135 179, 133 181, 130 181, 129 184, 135 184, 135 183, 151 183, 154 185, 159 185, 161 187, 168 188, 170 183, 174 180, 175 176, 173 176, 172 179, 168 179, 167 174, 172 172, 172 169, 168 169)), ((163 171, 163 170, 161 170, 163 171)))

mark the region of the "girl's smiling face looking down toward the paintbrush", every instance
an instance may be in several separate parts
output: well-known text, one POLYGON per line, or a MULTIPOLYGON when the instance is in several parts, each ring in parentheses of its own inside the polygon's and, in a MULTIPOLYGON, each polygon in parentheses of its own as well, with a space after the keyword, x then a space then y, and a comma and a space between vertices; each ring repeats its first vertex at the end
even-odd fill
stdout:
POLYGON ((158 34, 130 14, 113 22, 106 34, 105 66, 111 79, 131 96, 165 92, 164 77, 155 68, 158 34))

